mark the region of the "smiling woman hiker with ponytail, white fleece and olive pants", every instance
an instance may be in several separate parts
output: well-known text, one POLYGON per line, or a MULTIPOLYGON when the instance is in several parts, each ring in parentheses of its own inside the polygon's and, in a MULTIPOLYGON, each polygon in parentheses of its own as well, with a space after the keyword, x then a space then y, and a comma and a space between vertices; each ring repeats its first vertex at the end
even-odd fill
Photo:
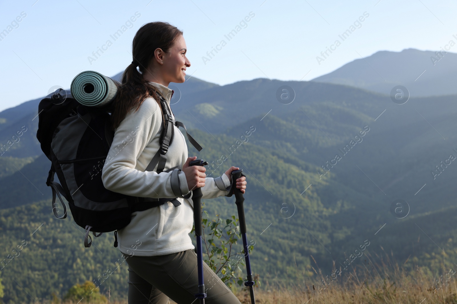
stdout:
MULTIPOLYGON (((135 211, 131 222, 118 231, 119 250, 128 263, 129 304, 166 304, 169 298, 178 304, 194 302, 198 293, 197 255, 189 236, 193 207, 183 196, 189 197, 190 191, 198 187, 203 199, 226 196, 231 188, 230 172, 239 169, 232 166, 222 176, 212 178, 206 177, 205 167, 189 166, 197 156, 187 157, 184 135, 173 126, 174 138, 166 154, 164 171, 144 171, 160 147, 164 123, 159 94, 170 105, 173 90, 168 85, 184 82, 186 67, 191 66, 182 34, 167 22, 141 26, 133 38, 133 61, 122 75, 111 115, 115 130, 112 147, 117 154, 103 167, 105 188, 129 196, 178 196, 181 202, 177 207, 164 204, 135 211), (127 142, 125 139, 133 134, 133 141, 127 142), (175 166, 182 168, 178 174, 181 193, 175 193, 171 187, 173 171, 165 172, 175 166), (171 213, 169 208, 174 208, 171 213)), ((244 193, 245 177, 237 179, 236 184, 244 193)), ((240 304, 213 270, 206 263, 203 266, 205 302, 240 304)))

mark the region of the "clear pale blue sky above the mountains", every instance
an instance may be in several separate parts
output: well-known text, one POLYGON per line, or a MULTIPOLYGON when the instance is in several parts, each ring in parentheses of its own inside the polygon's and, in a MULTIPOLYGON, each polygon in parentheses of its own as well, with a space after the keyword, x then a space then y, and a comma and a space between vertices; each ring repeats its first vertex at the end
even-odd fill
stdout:
POLYGON ((440 50, 457 34, 456 13, 451 0, 2 1, 0 31, 11 32, 0 41, 0 111, 44 96, 53 86, 69 88, 80 71, 123 71, 132 61, 135 32, 151 21, 184 31, 191 61, 186 77, 224 85, 259 77, 306 81, 382 50, 440 50), (21 12, 26 16, 15 23, 21 12), (140 17, 114 41, 110 35, 135 12, 140 17), (255 16, 228 41, 224 35, 250 12, 255 16), (319 65, 316 56, 364 12, 369 16, 360 28, 319 65), (107 40, 112 45, 90 62, 107 40), (227 45, 205 64, 202 57, 221 40, 227 45))

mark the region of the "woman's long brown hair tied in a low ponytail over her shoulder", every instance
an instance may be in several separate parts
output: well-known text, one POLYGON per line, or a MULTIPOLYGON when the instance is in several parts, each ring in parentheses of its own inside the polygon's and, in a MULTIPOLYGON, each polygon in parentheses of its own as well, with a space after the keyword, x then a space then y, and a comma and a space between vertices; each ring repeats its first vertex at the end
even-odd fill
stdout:
MULTIPOLYGON (((137 66, 134 63, 131 63, 122 73, 122 82, 120 84, 118 83, 117 96, 113 101, 111 115, 111 127, 113 131, 119 126, 128 111, 134 107, 136 107, 135 111, 138 111, 144 99, 149 96, 152 96, 160 107, 156 88, 143 80, 142 73, 146 72, 149 62, 154 57, 154 51, 160 48, 167 53, 179 35, 182 35, 182 31, 168 22, 149 22, 138 29, 135 37, 133 37, 132 57, 133 62, 138 64, 141 73, 138 72, 137 66)), ((162 108, 160 110, 162 111, 162 108)), ((163 118, 164 115, 162 112, 163 118)), ((165 123, 165 119, 163 121, 165 123)))

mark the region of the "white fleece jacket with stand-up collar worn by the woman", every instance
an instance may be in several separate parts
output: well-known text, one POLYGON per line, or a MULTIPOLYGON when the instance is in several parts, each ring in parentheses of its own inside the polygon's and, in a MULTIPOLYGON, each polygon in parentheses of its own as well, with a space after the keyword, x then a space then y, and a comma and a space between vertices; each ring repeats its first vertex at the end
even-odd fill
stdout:
MULTIPOLYGON (((156 82, 149 82, 170 105, 173 90, 156 82)), ((171 188, 170 172, 144 171, 159 149, 163 128, 162 113, 154 98, 146 98, 138 111, 131 109, 115 129, 109 156, 103 166, 101 178, 106 189, 129 196, 169 197, 176 195, 171 188)), ((180 129, 174 126, 174 138, 167 152, 165 170, 182 166, 187 160, 187 144, 180 129)), ((197 157, 198 158, 198 157, 197 157)), ((157 165, 154 170, 157 169, 157 165)), ((189 193, 186 175, 179 171, 181 195, 189 193)), ((205 178, 202 198, 225 196, 231 188, 231 178, 225 173, 219 177, 205 178), (225 190, 220 190, 222 180, 225 190)), ((132 213, 131 222, 118 230, 118 248, 122 253, 138 256, 156 256, 193 249, 189 233, 193 224, 191 197, 177 198, 181 205, 174 207, 167 202, 144 211, 132 213)))

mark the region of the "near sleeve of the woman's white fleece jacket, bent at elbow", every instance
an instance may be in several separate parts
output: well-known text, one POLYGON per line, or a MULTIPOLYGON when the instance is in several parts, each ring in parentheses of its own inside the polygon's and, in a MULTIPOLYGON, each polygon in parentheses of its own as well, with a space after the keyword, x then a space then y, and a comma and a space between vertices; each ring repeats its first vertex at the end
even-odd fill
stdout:
POLYGON ((131 109, 115 129, 101 174, 103 185, 108 190, 129 196, 183 197, 189 189, 181 169, 160 173, 136 169, 138 157, 161 131, 163 122, 160 106, 154 98, 146 98, 138 111, 135 109, 131 109), (181 193, 175 193, 179 191, 181 193))

